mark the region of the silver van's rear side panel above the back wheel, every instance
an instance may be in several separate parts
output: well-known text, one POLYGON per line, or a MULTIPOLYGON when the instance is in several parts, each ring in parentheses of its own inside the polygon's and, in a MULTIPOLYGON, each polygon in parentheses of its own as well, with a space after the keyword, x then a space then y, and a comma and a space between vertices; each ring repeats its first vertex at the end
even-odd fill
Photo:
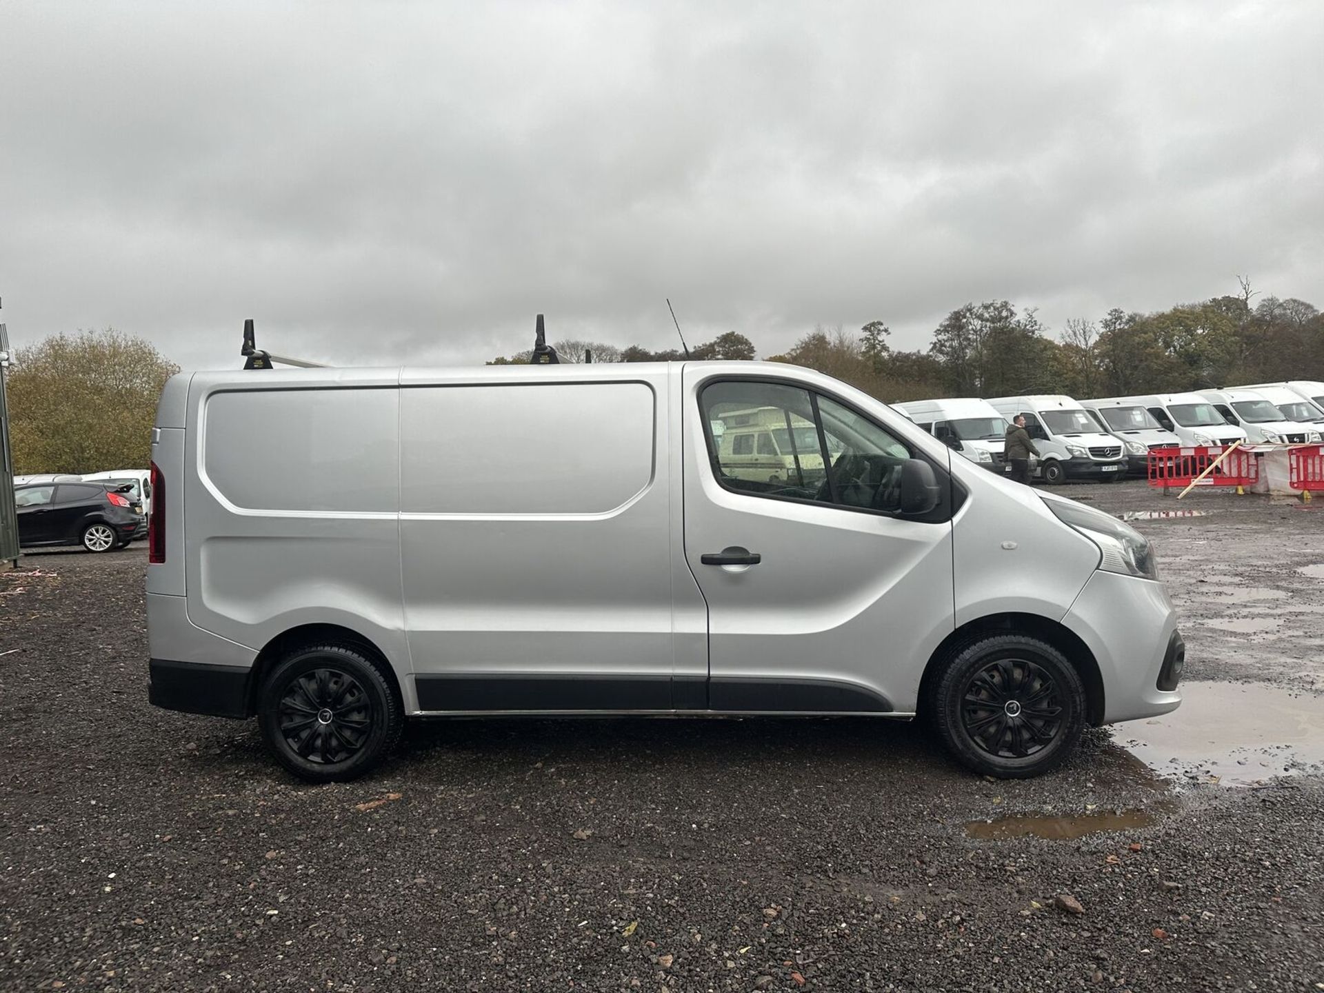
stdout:
POLYGON ((263 371, 236 388, 200 373, 184 555, 192 624, 253 650, 306 624, 347 628, 385 655, 408 708, 397 376, 342 387, 335 371, 263 371))

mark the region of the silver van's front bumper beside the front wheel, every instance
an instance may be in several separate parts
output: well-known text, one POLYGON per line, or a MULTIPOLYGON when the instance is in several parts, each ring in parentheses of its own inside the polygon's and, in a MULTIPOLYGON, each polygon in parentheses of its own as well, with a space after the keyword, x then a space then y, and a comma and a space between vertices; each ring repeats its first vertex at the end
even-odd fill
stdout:
POLYGON ((1080 637, 1099 663, 1100 723, 1153 718, 1181 703, 1173 679, 1181 673, 1173 669, 1178 651, 1185 661, 1185 646, 1161 583, 1095 571, 1062 624, 1080 637))

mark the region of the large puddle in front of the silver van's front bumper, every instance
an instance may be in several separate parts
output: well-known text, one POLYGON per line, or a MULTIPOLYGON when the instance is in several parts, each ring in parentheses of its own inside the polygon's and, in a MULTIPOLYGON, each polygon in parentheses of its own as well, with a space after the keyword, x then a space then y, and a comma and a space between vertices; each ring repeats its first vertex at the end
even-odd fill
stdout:
POLYGON ((1119 726, 1113 740, 1164 776, 1249 786, 1324 768, 1324 698, 1268 683, 1181 685, 1172 714, 1119 726))

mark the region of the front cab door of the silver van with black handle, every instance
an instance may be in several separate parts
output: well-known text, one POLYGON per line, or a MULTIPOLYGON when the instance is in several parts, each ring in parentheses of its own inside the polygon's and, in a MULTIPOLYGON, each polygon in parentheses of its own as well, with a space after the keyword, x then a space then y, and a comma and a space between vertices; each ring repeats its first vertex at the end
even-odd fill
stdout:
POLYGON ((951 494, 945 511, 904 519, 900 466, 915 453, 826 392, 687 364, 683 404, 685 556, 708 606, 708 706, 914 711, 953 628, 951 494), (802 465, 826 453, 831 471, 731 471, 715 438, 724 416, 752 408, 790 422, 802 465))

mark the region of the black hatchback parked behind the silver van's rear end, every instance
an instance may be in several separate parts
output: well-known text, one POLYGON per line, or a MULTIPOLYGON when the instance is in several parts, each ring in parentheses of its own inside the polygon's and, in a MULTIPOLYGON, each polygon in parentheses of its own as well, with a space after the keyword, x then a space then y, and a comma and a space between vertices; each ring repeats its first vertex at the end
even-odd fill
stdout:
POLYGON ((89 552, 124 548, 146 530, 122 493, 101 483, 28 483, 13 487, 19 544, 81 544, 89 552))

